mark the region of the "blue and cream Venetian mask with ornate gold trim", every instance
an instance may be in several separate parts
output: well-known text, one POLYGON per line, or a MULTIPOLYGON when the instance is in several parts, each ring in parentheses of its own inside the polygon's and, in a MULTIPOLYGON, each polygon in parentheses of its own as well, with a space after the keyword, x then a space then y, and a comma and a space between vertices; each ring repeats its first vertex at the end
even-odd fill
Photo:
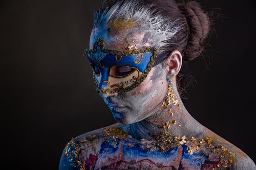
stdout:
POLYGON ((98 93, 121 93, 134 89, 147 77, 157 50, 153 47, 126 51, 105 49, 102 38, 85 50, 94 70, 98 93))

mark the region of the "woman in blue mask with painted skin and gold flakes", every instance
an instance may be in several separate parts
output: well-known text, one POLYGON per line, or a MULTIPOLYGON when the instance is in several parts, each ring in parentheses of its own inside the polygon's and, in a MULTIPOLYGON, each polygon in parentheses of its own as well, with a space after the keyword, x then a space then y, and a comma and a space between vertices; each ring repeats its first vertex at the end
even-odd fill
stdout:
POLYGON ((96 91, 118 122, 72 139, 60 170, 255 170, 241 150, 191 117, 182 63, 211 28, 197 2, 106 0, 90 49, 96 91))

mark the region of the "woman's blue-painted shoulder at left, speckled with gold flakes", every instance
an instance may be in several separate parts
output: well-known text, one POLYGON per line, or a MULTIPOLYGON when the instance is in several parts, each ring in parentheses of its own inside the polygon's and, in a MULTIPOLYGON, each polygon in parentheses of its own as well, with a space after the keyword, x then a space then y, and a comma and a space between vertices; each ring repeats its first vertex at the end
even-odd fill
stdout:
POLYGON ((59 170, 83 169, 86 164, 93 164, 106 141, 106 134, 118 131, 118 127, 116 123, 72 138, 64 148, 59 170))

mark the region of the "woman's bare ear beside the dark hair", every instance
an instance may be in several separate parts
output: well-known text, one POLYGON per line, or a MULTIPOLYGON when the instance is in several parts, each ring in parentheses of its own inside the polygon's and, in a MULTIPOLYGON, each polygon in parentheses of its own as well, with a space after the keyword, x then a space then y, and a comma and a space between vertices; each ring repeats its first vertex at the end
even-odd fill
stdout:
POLYGON ((172 51, 169 57, 166 59, 166 63, 169 67, 169 73, 171 76, 176 76, 182 65, 182 55, 180 51, 172 51))

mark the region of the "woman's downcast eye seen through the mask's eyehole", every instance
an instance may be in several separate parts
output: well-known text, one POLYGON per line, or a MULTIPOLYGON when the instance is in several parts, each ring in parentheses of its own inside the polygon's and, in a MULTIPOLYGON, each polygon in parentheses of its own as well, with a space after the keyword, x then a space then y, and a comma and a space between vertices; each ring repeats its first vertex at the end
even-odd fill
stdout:
POLYGON ((135 70, 127 66, 112 66, 109 70, 109 75, 112 77, 124 77, 129 75, 135 70))

